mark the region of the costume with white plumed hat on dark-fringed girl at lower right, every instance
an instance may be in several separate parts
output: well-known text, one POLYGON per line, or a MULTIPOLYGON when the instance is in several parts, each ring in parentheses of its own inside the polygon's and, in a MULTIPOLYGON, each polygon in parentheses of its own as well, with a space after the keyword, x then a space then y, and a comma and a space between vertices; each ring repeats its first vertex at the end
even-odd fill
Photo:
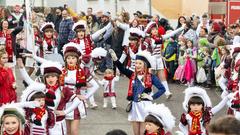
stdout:
POLYGON ((183 108, 186 113, 181 115, 179 123, 180 130, 186 135, 207 135, 207 124, 209 124, 213 115, 225 106, 228 101, 227 97, 212 108, 211 100, 204 89, 200 87, 189 87, 184 93, 183 108), (203 111, 192 112, 191 110, 188 110, 188 102, 194 96, 202 98, 204 102, 203 111))

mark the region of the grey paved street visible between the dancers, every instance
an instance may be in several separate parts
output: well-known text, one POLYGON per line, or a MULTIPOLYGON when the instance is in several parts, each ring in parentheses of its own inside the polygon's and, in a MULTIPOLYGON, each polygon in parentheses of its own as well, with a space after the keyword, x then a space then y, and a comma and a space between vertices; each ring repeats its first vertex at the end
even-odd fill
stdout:
MULTIPOLYGON (((18 95, 21 94, 21 90, 23 89, 21 79, 19 78, 19 74, 17 73, 18 84, 20 85, 18 89, 18 95)), ((109 104, 107 109, 103 109, 103 98, 102 98, 102 87, 95 94, 95 100, 99 105, 96 110, 88 109, 88 116, 86 119, 81 120, 80 124, 80 133, 81 135, 105 135, 107 131, 112 129, 123 129, 128 133, 128 135, 132 135, 132 128, 130 123, 127 121, 127 113, 125 112, 125 107, 127 105, 126 94, 128 87, 128 79, 125 77, 121 77, 119 83, 116 84, 117 88, 117 105, 118 108, 116 110, 111 109, 111 104, 109 104)), ((178 121, 182 109, 183 102, 183 90, 186 88, 184 85, 170 84, 171 92, 174 94, 170 101, 166 101, 165 95, 161 96, 160 99, 154 101, 157 103, 165 103, 168 106, 174 116, 176 117, 176 125, 178 125, 178 121)), ((209 96, 211 97, 212 104, 216 105, 220 101, 219 92, 216 92, 215 89, 207 90, 209 96)), ((223 109, 219 112, 215 117, 218 118, 221 115, 224 115, 226 109, 223 109)), ((177 127, 177 126, 176 126, 177 127)), ((174 129, 175 131, 178 128, 174 129)))

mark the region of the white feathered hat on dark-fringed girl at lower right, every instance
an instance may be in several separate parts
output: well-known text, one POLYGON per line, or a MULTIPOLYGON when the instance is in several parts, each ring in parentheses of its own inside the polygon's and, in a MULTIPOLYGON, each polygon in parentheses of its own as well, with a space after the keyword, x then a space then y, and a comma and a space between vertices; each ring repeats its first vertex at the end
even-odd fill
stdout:
POLYGON ((188 111, 188 102, 189 99, 193 96, 198 96, 200 98, 202 98, 203 102, 204 102, 204 107, 212 107, 212 102, 206 92, 206 90, 200 88, 200 87, 189 87, 187 88, 185 91, 185 97, 184 97, 184 101, 183 101, 183 108, 185 109, 185 111, 188 111))

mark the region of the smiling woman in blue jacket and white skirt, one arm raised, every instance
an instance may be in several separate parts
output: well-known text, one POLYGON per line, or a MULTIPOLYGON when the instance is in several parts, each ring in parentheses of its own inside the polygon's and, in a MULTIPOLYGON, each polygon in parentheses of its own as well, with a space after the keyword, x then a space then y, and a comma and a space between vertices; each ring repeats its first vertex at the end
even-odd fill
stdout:
POLYGON ((128 121, 132 123, 134 135, 143 135, 145 130, 144 118, 147 116, 145 108, 152 104, 152 100, 159 98, 164 92, 165 88, 156 75, 149 72, 150 68, 154 66, 153 58, 147 51, 137 53, 135 61, 135 71, 125 68, 115 52, 109 50, 114 64, 119 71, 129 78, 128 96, 130 101, 130 109, 128 121), (157 88, 155 93, 152 93, 152 86, 157 88))

